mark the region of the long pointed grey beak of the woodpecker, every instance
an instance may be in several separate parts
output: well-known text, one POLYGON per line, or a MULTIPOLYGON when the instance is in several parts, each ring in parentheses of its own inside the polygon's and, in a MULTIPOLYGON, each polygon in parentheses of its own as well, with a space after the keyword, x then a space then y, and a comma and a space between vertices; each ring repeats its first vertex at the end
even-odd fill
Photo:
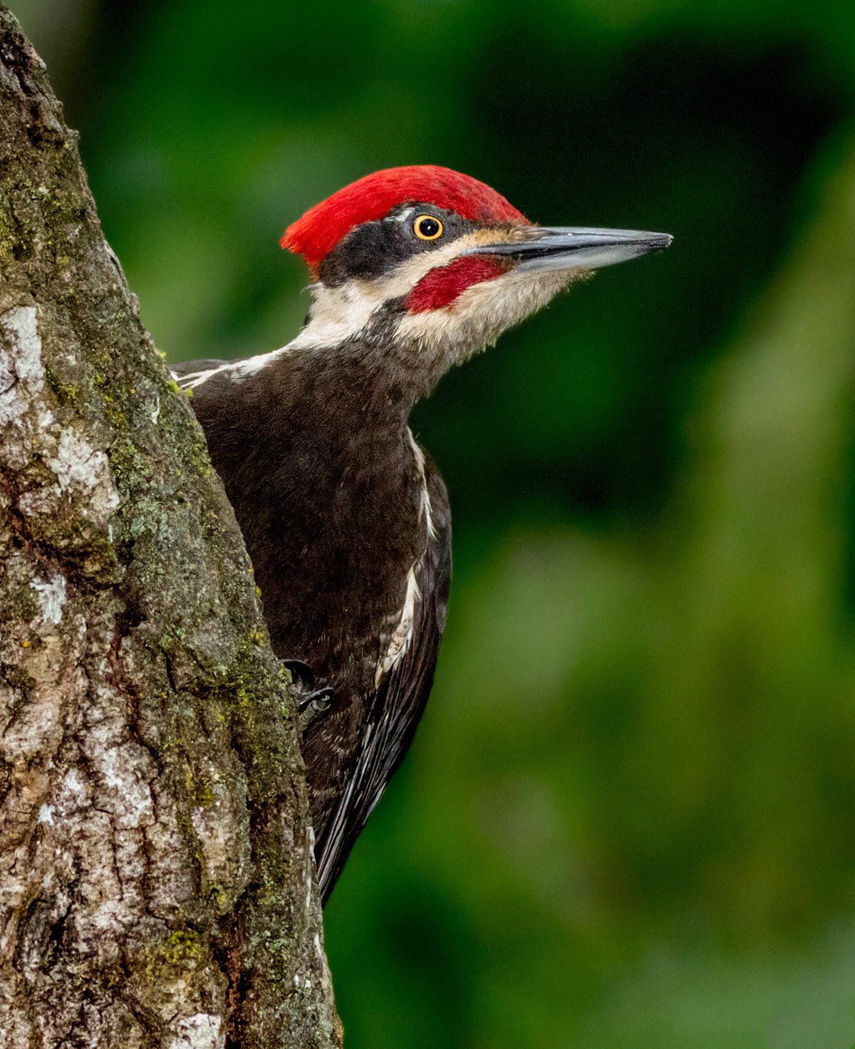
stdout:
POLYGON ((464 255, 504 255, 518 261, 516 272, 535 270, 598 270, 660 252, 674 240, 667 233, 639 230, 592 230, 582 227, 533 227, 530 239, 478 244, 464 255))

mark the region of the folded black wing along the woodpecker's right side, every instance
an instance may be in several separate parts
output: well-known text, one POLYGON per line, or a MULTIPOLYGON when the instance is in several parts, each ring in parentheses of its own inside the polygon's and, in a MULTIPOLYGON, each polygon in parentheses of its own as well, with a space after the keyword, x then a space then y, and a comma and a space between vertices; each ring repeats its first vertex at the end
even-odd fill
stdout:
POLYGON ((445 486, 431 464, 426 479, 432 534, 415 575, 421 600, 415 602, 412 636, 404 656, 375 693, 352 774, 317 842, 318 881, 324 903, 412 742, 433 684, 451 582, 451 518, 445 486))

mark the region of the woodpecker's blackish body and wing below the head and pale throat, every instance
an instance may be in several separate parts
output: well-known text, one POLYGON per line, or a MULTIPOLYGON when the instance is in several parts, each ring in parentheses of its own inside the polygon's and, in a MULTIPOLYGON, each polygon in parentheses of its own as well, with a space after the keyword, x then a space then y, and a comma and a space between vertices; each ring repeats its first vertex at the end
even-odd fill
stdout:
POLYGON ((324 900, 424 710, 451 572, 445 487, 407 428, 414 397, 372 358, 351 343, 174 369, 193 383, 274 651, 335 690, 302 742, 324 900))

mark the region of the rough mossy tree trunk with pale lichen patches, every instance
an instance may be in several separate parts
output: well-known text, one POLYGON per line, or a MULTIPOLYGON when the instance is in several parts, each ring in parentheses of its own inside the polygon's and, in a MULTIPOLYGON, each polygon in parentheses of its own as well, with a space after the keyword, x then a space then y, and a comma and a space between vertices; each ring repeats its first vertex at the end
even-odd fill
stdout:
POLYGON ((0 1047, 339 1045, 293 695, 0 8, 0 1047))

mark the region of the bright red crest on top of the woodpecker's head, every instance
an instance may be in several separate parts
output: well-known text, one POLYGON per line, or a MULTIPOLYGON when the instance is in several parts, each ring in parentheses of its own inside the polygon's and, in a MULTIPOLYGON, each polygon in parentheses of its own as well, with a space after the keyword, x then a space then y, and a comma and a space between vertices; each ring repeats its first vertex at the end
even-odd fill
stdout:
POLYGON ((314 272, 355 226, 383 218, 400 204, 432 204, 470 221, 528 222, 485 183, 432 164, 386 168, 365 175, 309 209, 285 230, 282 248, 302 255, 314 272))

